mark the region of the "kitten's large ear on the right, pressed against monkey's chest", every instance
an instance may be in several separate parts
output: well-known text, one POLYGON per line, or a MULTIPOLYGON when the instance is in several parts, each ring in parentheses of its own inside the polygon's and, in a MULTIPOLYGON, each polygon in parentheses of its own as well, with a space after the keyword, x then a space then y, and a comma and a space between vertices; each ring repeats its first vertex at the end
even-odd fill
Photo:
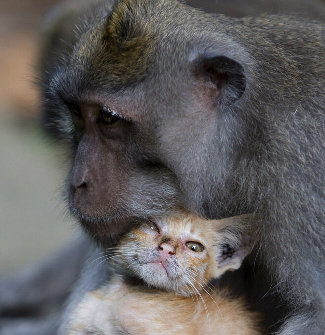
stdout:
POLYGON ((257 215, 245 214, 215 221, 217 255, 215 278, 227 270, 240 268, 244 258, 259 239, 256 231, 257 220, 259 220, 257 215))

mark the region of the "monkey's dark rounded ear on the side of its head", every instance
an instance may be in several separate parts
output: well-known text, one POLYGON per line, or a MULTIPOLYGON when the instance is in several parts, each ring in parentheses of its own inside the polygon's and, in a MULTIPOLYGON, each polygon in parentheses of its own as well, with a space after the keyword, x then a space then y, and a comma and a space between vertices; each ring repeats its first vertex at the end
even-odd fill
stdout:
POLYGON ((196 79, 214 105, 231 105, 243 95, 247 81, 244 68, 237 61, 223 55, 201 55, 192 64, 196 79))

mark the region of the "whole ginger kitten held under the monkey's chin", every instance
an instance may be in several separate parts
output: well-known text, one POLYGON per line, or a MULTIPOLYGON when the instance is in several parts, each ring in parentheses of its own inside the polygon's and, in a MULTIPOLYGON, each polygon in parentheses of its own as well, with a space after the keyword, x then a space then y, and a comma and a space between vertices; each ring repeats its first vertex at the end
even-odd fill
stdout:
POLYGON ((249 219, 182 212, 134 228, 109 250, 115 275, 86 294, 68 335, 262 335, 257 313, 209 284, 250 252, 249 219))

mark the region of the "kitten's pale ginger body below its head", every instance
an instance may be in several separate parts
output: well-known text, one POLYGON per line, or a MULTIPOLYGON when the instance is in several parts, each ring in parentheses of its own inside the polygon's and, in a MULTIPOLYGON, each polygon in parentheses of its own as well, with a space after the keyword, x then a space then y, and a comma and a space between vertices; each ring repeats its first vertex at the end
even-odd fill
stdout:
POLYGON ((248 311, 241 300, 209 289, 200 294, 202 299, 198 294, 193 298, 175 296, 136 287, 115 277, 110 284, 87 294, 73 316, 76 321, 68 334, 262 334, 256 326, 258 315, 248 311))

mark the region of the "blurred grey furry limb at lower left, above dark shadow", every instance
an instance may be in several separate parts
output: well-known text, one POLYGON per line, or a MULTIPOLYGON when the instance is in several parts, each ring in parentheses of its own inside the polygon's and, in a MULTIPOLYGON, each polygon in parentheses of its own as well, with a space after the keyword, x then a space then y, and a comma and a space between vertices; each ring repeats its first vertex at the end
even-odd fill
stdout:
POLYGON ((91 244, 85 235, 41 262, 0 278, 1 316, 38 315, 63 302, 77 280, 91 244))

